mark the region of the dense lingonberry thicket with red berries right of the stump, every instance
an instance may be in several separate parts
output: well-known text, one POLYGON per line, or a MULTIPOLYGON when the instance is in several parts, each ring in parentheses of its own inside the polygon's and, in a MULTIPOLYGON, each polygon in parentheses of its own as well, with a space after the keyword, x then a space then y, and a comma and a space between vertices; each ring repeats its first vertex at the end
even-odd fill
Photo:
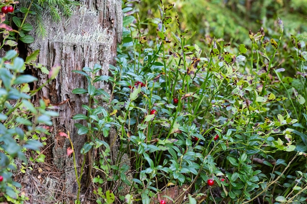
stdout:
POLYGON ((249 44, 207 37, 201 47, 173 9, 161 3, 144 23, 124 8, 109 112, 132 185, 126 196, 110 190, 127 203, 303 203, 307 174, 294 166, 306 156, 305 44, 283 42, 277 20, 267 34, 250 31, 249 44))

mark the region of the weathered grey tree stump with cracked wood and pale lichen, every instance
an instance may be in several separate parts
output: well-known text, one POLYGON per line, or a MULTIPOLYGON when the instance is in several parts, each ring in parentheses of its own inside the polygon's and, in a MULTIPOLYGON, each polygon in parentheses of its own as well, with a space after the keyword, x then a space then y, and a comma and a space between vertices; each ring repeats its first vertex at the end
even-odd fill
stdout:
MULTIPOLYGON (((66 150, 70 147, 69 140, 59 136, 60 132, 70 132, 73 140, 77 165, 81 166, 80 149, 83 146, 84 136, 77 135, 77 129, 72 120, 77 113, 86 114, 82 109, 87 104, 86 95, 72 94, 76 88, 87 88, 87 81, 82 75, 72 70, 82 70, 83 67, 93 68, 96 63, 102 65, 103 71, 98 74, 108 74, 109 64, 114 63, 117 43, 121 41, 122 9, 121 0, 84 0, 70 19, 60 23, 52 23, 50 16, 44 20, 48 24, 48 36, 35 37, 35 42, 28 46, 28 52, 40 50, 38 63, 47 68, 59 64, 61 70, 55 80, 34 98, 34 102, 45 96, 51 103, 59 103, 69 99, 69 102, 60 106, 59 117, 53 119, 53 130, 48 140, 44 164, 35 164, 36 169, 42 171, 31 173, 25 178, 26 195, 29 203, 72 203, 76 199, 77 181, 74 172, 73 158, 68 157, 66 150), (37 174, 38 173, 38 176, 37 174)), ((40 70, 31 70, 39 78, 36 86, 41 86, 47 80, 46 74, 40 70)), ((100 85, 108 91, 107 85, 100 85)), ((78 168, 78 173, 80 168, 78 168)), ((83 177, 86 177, 84 174, 83 177)), ((87 189, 82 189, 83 193, 87 189)), ((81 196, 82 197, 82 196, 81 196)), ((85 202, 86 199, 83 198, 85 202)), ((86 201, 86 203, 92 203, 86 201)))

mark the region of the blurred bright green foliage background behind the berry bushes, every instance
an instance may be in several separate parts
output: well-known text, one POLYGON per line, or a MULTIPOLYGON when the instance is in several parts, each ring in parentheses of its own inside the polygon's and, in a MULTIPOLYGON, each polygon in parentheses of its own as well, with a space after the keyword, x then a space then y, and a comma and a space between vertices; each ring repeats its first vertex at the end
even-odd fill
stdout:
MULTIPOLYGON (((131 2, 135 2, 132 0, 131 2)), ((206 38, 224 39, 227 43, 248 43, 249 30, 260 27, 266 34, 274 35, 269 28, 280 18, 285 34, 298 33, 299 40, 307 40, 307 0, 166 0, 163 4, 175 4, 171 12, 179 16, 181 30, 191 28, 190 44, 201 45, 206 38)), ((158 0, 139 0, 135 3, 144 28, 156 24, 159 17, 158 0)), ((175 19, 173 19, 175 23, 175 19)), ((153 32, 153 29, 149 29, 153 32)), ((149 33, 151 34, 151 33, 149 33)), ((151 35, 154 36, 154 35, 151 35)))

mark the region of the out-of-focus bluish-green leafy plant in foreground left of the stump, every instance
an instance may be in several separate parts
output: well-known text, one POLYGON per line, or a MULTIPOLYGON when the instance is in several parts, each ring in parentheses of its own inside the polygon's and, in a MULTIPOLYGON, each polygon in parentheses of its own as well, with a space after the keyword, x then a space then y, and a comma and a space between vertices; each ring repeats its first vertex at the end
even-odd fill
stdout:
MULTIPOLYGON (((46 140, 46 137, 38 137, 39 134, 49 134, 45 128, 52 124, 51 117, 57 113, 48 110, 43 100, 40 106, 34 107, 31 103, 33 96, 39 89, 30 91, 29 83, 37 79, 31 75, 22 74, 24 67, 36 59, 37 53, 28 56, 26 62, 18 57, 14 50, 9 50, 0 58, 0 202, 23 202, 27 198, 20 195, 18 190, 21 185, 13 181, 13 173, 18 169, 30 168, 25 156, 27 150, 36 150, 46 140), (22 161, 16 166, 15 159, 22 161)), ((51 68, 49 80, 57 75, 59 68, 51 68)), ((33 154, 35 156, 36 153, 33 154)), ((33 161, 33 160, 32 160, 33 161)))

